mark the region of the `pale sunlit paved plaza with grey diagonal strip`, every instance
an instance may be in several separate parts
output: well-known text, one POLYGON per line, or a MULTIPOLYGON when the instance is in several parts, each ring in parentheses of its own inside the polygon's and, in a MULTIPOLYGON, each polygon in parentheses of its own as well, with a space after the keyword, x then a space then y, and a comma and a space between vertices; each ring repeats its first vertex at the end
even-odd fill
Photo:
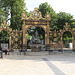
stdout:
POLYGON ((0 75, 75 75, 75 54, 4 55, 0 75))

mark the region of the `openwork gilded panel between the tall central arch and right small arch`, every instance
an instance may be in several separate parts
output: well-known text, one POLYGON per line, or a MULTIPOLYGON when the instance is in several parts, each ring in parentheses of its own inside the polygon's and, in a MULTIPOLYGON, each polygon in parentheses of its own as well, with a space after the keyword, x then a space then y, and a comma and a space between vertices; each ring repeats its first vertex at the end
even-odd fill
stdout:
POLYGON ((63 44, 60 31, 50 31, 50 50, 58 50, 62 48, 63 44))

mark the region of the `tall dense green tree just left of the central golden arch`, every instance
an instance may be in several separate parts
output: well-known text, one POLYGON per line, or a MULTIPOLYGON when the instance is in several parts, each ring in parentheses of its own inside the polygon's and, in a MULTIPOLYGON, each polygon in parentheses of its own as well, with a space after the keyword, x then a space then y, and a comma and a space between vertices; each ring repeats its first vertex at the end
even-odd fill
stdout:
POLYGON ((20 30, 22 26, 21 14, 24 11, 25 3, 24 0, 14 0, 11 2, 11 25, 13 29, 20 30))

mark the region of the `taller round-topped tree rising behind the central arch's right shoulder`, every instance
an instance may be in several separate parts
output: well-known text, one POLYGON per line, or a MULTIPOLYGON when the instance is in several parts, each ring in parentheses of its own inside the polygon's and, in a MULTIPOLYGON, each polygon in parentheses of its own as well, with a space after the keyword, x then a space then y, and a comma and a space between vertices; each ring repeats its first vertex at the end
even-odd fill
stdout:
POLYGON ((47 12, 50 14, 50 29, 55 30, 57 28, 57 26, 55 25, 57 22, 57 14, 53 10, 53 8, 47 2, 45 2, 39 5, 39 11, 42 13, 43 17, 45 17, 47 12))

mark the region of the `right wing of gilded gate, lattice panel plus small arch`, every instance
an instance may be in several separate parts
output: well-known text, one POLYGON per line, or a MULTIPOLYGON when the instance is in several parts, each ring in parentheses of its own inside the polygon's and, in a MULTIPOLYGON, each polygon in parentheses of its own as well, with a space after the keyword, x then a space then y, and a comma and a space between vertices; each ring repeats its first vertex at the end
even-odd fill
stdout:
POLYGON ((50 31, 49 32, 49 36, 50 36, 50 49, 54 50, 54 49, 61 49, 65 47, 65 45, 63 44, 63 34, 65 32, 71 32, 72 34, 72 44, 73 44, 73 49, 75 49, 75 29, 71 29, 70 25, 68 25, 68 23, 66 22, 64 25, 63 30, 59 30, 59 31, 50 31))

